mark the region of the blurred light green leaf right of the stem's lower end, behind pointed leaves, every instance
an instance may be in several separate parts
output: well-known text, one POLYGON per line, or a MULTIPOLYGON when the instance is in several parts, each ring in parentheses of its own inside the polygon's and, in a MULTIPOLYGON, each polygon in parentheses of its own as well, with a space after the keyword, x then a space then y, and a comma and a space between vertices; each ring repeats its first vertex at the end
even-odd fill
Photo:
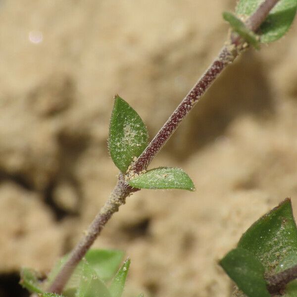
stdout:
POLYGON ((103 281, 112 279, 123 259, 124 252, 112 249, 90 249, 85 258, 103 281))

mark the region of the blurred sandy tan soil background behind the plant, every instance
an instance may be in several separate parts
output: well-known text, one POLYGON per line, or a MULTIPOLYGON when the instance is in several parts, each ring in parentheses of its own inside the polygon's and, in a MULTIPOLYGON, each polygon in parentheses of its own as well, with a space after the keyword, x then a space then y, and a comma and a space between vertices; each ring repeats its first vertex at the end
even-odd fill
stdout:
MULTIPOLYGON (((0 296, 48 272, 108 197, 113 95, 153 136, 221 48, 235 0, 0 0, 0 296)), ((229 67, 150 168, 197 191, 127 199, 95 246, 132 258, 126 296, 227 297, 217 260, 282 199, 297 210, 297 25, 229 67)))

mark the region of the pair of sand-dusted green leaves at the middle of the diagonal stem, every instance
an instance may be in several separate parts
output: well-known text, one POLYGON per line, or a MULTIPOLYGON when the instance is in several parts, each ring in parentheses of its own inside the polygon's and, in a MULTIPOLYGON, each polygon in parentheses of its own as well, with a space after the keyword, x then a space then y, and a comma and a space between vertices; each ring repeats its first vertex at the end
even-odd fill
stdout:
POLYGON ((147 146, 148 130, 141 117, 126 101, 115 96, 108 148, 129 185, 139 189, 195 190, 190 177, 180 168, 159 167, 140 174, 132 172, 130 166, 147 146))

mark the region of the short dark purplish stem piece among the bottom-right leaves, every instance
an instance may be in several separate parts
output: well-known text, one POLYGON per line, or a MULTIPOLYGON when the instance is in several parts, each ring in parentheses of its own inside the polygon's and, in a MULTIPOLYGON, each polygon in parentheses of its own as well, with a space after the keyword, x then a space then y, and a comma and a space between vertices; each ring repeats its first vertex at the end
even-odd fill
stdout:
POLYGON ((266 278, 270 294, 279 294, 288 283, 297 278, 297 265, 266 278))

